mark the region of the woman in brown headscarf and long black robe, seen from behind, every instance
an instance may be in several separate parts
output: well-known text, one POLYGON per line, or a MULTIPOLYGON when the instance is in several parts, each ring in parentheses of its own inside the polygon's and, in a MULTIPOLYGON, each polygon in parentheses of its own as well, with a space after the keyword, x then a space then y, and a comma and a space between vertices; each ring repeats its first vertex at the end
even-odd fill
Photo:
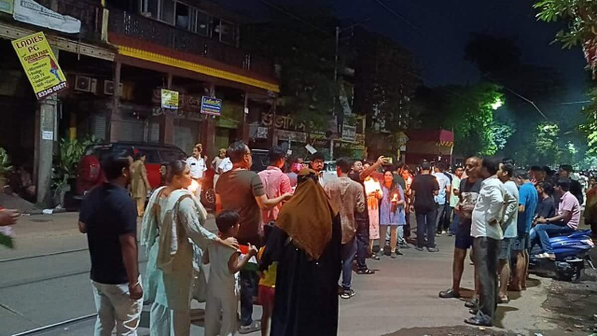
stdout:
POLYGON ((260 269, 278 262, 271 336, 330 336, 338 329, 340 216, 303 169, 267 239, 260 269))

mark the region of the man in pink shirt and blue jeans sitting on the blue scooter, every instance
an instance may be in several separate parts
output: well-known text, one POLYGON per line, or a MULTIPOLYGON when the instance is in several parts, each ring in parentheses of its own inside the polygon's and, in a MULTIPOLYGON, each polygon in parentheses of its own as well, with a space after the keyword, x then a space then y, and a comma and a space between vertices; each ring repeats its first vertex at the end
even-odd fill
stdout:
POLYGON ((560 201, 558 206, 558 215, 552 218, 539 218, 535 227, 537 237, 534 240, 541 242, 543 253, 536 257, 541 259, 556 259, 553 248, 549 242, 549 237, 561 236, 562 234, 573 233, 578 228, 580 222, 580 204, 578 199, 570 193, 570 180, 559 179, 553 190, 558 194, 560 201))

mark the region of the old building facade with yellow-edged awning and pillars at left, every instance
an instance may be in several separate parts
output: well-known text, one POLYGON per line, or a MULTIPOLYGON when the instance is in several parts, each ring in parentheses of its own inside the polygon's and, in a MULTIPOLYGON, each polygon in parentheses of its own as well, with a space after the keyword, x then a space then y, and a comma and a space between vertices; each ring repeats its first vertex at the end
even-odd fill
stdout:
POLYGON ((248 118, 275 104, 279 88, 273 63, 238 48, 242 17, 214 4, 19 1, 24 3, 80 22, 78 32, 66 33, 36 17, 23 20, 18 6, 0 9, 0 45, 9 51, 0 56, 6 74, 0 78, 0 108, 6 115, 0 146, 14 164, 31 170, 40 203, 51 197, 52 160, 60 139, 168 143, 187 153, 201 142, 213 157, 233 140, 248 141, 248 118), (66 90, 42 100, 36 100, 10 45, 39 31, 68 83, 66 90), (177 109, 162 107, 161 89, 177 91, 177 109), (204 113, 203 97, 221 100, 216 114, 204 113))

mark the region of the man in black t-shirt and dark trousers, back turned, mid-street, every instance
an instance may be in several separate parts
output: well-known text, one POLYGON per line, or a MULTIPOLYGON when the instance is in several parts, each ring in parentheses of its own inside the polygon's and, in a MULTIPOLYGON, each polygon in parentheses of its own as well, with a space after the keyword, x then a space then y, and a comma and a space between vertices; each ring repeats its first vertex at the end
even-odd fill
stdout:
POLYGON ((438 205, 435 196, 439 193, 439 184, 435 176, 430 174, 431 164, 423 161, 421 173, 411 185, 413 205, 411 212, 417 213, 417 251, 423 251, 424 233, 427 233, 427 251, 438 252, 435 247, 435 219, 438 205))

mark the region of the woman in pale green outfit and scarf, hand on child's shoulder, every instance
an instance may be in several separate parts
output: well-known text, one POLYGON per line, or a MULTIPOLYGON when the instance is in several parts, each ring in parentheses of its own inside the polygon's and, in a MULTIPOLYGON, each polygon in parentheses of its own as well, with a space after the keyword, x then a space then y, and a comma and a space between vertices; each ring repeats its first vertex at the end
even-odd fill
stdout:
POLYGON ((199 267, 203 251, 210 243, 233 248, 238 243, 221 240, 203 227, 207 212, 186 189, 192 179, 184 161, 170 163, 167 181, 167 187, 153 193, 143 216, 141 245, 148 255, 145 297, 153 301, 149 328, 150 335, 188 336, 190 300, 205 291, 199 267))

